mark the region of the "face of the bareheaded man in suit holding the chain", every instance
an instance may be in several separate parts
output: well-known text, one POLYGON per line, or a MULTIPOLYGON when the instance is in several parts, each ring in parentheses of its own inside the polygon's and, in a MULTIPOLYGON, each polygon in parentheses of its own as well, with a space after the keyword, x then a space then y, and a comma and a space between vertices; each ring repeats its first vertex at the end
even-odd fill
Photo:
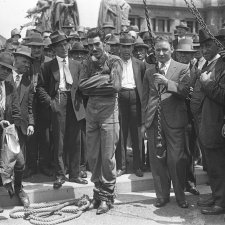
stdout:
POLYGON ((155 44, 156 59, 161 63, 166 63, 171 59, 173 48, 168 41, 159 41, 155 44))

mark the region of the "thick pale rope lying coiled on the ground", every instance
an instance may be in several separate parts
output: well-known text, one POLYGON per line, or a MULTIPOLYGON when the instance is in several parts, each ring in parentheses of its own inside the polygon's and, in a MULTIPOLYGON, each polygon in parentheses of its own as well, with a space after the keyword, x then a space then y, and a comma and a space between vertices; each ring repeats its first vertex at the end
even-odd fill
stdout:
POLYGON ((41 203, 29 208, 12 210, 9 216, 12 219, 24 218, 34 225, 55 225, 78 218, 89 206, 89 197, 83 195, 80 199, 61 203, 41 203), (70 208, 65 208, 68 206, 70 208))

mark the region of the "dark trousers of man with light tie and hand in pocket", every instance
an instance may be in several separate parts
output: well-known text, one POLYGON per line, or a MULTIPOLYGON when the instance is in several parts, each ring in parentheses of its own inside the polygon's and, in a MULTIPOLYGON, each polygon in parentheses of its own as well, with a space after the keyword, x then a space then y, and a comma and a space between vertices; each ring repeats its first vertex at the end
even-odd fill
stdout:
POLYGON ((79 177, 80 124, 74 113, 71 93, 61 92, 52 110, 52 132, 55 151, 56 176, 65 176, 64 156, 69 156, 69 178, 79 177))

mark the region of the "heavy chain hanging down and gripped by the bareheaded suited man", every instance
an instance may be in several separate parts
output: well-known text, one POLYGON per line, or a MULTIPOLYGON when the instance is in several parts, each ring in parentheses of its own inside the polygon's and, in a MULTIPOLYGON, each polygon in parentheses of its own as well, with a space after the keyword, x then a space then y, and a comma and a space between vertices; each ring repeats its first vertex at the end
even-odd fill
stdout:
MULTIPOLYGON (((155 69, 157 72, 160 72, 159 70, 159 64, 158 61, 156 60, 156 56, 155 56, 155 40, 153 37, 153 32, 151 29, 151 25, 150 25, 150 21, 149 21, 149 10, 148 10, 148 6, 146 3, 146 0, 143 0, 144 6, 145 6, 145 17, 146 17, 146 22, 147 22, 147 27, 148 27, 148 33, 149 33, 149 38, 150 38, 150 47, 151 50, 153 52, 153 57, 154 57, 154 61, 155 61, 155 69)), ((160 91, 160 86, 158 85, 158 106, 157 106, 157 137, 156 137, 156 148, 157 148, 157 154, 156 157, 157 158, 165 158, 166 156, 166 151, 165 149, 163 149, 162 147, 162 126, 161 126, 161 95, 162 92, 160 91), (159 154, 160 152, 160 154, 159 154)))

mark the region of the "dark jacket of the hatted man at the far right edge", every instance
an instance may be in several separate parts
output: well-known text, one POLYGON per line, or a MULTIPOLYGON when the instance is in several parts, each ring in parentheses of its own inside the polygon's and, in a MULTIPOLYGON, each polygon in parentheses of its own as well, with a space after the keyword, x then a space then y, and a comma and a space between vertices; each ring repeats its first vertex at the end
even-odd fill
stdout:
POLYGON ((199 124, 199 138, 207 148, 224 148, 221 135, 225 114, 225 64, 221 58, 211 69, 214 78, 201 84, 203 98, 199 124))

